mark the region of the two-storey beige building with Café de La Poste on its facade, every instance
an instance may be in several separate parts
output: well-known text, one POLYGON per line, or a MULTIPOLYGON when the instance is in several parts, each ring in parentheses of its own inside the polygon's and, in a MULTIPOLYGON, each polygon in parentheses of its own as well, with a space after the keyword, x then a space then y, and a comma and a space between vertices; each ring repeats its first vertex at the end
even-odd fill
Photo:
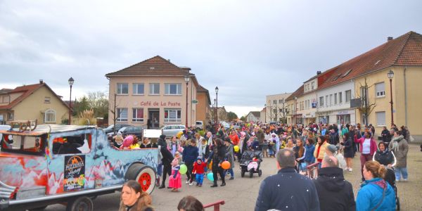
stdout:
MULTIPOLYGON (((152 128, 169 124, 194 127, 199 84, 190 71, 191 68, 178 67, 170 60, 155 56, 108 73, 109 105, 110 110, 115 108, 116 124, 146 127, 151 120, 152 128)), ((202 110, 206 112, 206 109, 202 110)), ((111 111, 108 116, 109 124, 113 124, 111 111)))

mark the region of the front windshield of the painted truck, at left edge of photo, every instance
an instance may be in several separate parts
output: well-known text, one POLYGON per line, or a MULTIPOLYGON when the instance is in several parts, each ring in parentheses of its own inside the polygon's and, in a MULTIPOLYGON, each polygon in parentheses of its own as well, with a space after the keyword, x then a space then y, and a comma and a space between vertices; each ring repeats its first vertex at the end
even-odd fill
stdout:
POLYGON ((20 136, 3 135, 1 140, 1 151, 13 153, 42 154, 44 149, 44 140, 42 136, 20 136))

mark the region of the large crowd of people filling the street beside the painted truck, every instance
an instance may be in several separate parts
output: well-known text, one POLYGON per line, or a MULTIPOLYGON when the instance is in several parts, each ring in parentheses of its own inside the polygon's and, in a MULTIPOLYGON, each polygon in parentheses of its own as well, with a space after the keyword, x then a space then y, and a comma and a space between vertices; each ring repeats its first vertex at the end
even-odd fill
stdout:
POLYGON ((279 168, 276 177, 262 181, 255 210, 395 210, 394 184, 387 181, 408 179, 410 135, 406 127, 384 127, 378 144, 371 124, 241 124, 213 130, 217 133, 186 129, 170 139, 162 135, 156 144, 143 140, 140 148, 160 149, 159 188, 166 187, 167 177, 167 188, 174 192, 181 188, 182 177, 188 186, 196 183, 202 187, 204 178, 212 181, 212 188, 219 180, 219 186, 226 186, 226 176, 235 178, 235 162, 245 151, 262 151, 263 157, 276 158, 279 168), (362 188, 355 203, 352 185, 345 181, 343 172, 353 171, 356 155, 361 162, 362 188), (225 161, 230 164, 228 168, 222 167, 225 161), (181 174, 181 165, 187 168, 186 176, 181 174), (307 171, 309 165, 317 165, 318 175, 307 171), (394 169, 395 174, 388 174, 388 169, 394 169))

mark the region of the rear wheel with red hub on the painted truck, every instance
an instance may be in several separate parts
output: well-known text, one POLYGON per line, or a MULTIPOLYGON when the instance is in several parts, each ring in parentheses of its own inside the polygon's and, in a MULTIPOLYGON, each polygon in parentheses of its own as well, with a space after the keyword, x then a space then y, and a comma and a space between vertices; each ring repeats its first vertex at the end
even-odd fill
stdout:
POLYGON ((124 180, 134 180, 141 184, 142 191, 151 194, 155 188, 155 171, 152 167, 136 162, 129 166, 124 180))

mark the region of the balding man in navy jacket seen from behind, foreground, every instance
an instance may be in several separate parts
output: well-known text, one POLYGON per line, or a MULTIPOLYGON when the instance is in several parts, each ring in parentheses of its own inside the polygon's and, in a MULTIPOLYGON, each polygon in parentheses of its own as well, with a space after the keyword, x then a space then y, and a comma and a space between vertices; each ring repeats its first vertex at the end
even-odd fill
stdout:
POLYGON ((255 211, 319 210, 314 183, 295 171, 295 155, 289 149, 277 154, 278 174, 262 181, 255 211))

